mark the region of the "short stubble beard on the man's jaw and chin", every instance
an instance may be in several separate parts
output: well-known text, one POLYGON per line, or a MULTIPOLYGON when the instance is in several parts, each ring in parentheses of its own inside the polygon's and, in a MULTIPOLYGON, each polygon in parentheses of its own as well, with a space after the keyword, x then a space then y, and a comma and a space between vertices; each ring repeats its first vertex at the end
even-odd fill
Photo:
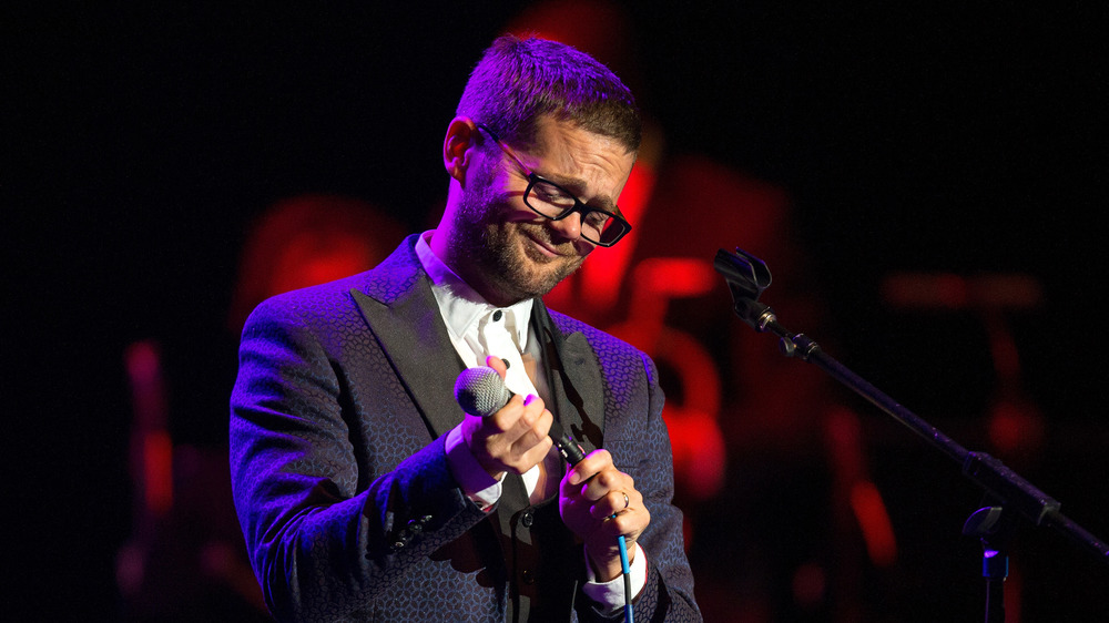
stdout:
MULTIPOLYGON (((489 183, 492 170, 482 171, 474 192, 465 192, 456 214, 450 246, 459 267, 484 282, 502 300, 516 303, 541 297, 577 270, 584 257, 573 243, 554 243, 542 223, 506 222, 500 213, 509 210, 509 197, 495 192, 489 183), (529 236, 549 244, 559 253, 550 257, 536 248, 529 236)), ((470 284, 479 287, 478 284, 470 284)))

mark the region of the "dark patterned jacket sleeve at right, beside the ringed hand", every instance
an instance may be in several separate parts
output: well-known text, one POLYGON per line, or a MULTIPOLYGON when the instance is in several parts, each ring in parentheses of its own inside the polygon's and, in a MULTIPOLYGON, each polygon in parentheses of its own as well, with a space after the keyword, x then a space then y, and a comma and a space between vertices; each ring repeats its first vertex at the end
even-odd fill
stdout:
MULTIPOLYGON (((684 622, 701 621, 701 611, 693 598, 693 573, 685 556, 682 537, 682 512, 673 505, 674 474, 670 436, 662 419, 664 397, 659 387, 658 369, 650 357, 640 353, 645 382, 647 404, 620 416, 623 421, 606 421, 607 449, 618 469, 630 474, 651 511, 651 523, 638 542, 647 554, 647 583, 633 602, 635 621, 684 622), (627 431, 627 435, 624 435, 627 431), (612 435, 610 435, 610 432, 612 435)), ((607 413, 610 416, 611 413, 607 413)), ((622 621, 623 613, 602 616, 589 600, 580 600, 578 614, 582 621, 622 621)))

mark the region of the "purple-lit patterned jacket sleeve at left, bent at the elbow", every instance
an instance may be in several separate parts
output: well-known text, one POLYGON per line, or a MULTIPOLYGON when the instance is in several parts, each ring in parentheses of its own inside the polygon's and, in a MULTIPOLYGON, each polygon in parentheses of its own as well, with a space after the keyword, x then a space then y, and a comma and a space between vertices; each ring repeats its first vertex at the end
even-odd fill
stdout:
POLYGON ((344 372, 311 326, 295 307, 260 306, 231 404, 235 507, 278 620, 365 607, 484 517, 451 478, 442 438, 376 478, 363 473, 344 372))

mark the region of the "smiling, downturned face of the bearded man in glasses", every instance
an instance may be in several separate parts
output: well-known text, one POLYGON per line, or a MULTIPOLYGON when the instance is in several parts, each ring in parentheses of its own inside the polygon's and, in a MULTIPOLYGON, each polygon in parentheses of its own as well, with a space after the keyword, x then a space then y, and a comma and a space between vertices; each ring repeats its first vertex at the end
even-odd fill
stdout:
MULTIPOLYGON (((568 123, 543 119, 538 125, 532 144, 511 145, 520 162, 587 205, 612 210, 635 154, 568 123)), ((490 303, 547 294, 593 251, 580 236, 579 214, 550 221, 525 205, 527 173, 496 143, 482 152, 471 180, 452 224, 452 267, 490 303)))

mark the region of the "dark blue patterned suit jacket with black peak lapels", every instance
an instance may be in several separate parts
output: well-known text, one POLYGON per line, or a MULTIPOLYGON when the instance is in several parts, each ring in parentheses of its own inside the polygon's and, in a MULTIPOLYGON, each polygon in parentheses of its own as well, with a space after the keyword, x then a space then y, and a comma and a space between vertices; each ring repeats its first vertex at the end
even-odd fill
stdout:
MULTIPOLYGON (((415 241, 367 273, 267 300, 243 331, 235 505, 279 620, 505 620, 502 543, 446 463, 444 433, 464 416, 452 396, 461 362, 415 241)), ((654 364, 540 302, 536 309, 551 410, 587 451, 613 455, 651 511, 635 617, 700 620, 654 364)), ((580 547, 567 549, 569 568, 583 570, 580 547)), ((578 590, 582 574, 561 580, 569 603, 541 617, 599 619, 578 590)))

